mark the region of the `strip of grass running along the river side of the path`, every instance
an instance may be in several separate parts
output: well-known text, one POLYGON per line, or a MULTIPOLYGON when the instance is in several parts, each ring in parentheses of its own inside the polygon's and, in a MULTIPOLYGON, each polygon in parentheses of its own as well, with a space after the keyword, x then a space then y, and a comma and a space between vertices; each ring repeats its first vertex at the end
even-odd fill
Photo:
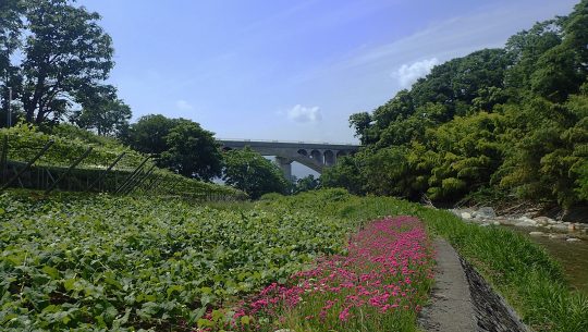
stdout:
POLYGON ((268 209, 310 210, 340 220, 418 217, 431 235, 445 237, 471 262, 535 331, 588 331, 588 296, 571 291, 558 262, 510 230, 480 228, 448 211, 390 197, 357 197, 343 189, 291 197, 267 195, 260 205, 268 209))

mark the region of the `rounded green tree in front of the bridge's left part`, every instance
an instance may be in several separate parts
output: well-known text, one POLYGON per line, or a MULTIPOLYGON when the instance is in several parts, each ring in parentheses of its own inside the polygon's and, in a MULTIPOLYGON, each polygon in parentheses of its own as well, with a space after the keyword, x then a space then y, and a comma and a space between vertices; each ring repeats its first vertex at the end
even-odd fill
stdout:
POLYGON ((249 147, 224 152, 224 182, 249 195, 253 199, 264 194, 287 194, 290 183, 278 165, 249 147))

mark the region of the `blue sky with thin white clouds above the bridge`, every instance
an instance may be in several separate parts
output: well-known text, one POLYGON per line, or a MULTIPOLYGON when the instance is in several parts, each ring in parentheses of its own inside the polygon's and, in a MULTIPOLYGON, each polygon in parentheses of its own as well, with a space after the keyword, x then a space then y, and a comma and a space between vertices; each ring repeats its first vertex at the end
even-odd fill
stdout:
POLYGON ((199 122, 220 138, 356 142, 371 111, 432 65, 502 47, 576 0, 79 0, 102 15, 110 83, 134 119, 199 122))

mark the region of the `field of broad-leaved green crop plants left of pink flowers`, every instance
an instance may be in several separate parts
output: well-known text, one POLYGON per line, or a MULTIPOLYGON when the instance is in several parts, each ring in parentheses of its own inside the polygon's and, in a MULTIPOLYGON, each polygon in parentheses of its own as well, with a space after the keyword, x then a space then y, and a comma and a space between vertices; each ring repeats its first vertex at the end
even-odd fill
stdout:
POLYGON ((353 225, 107 195, 0 196, 3 331, 189 331, 211 307, 343 254, 353 225))

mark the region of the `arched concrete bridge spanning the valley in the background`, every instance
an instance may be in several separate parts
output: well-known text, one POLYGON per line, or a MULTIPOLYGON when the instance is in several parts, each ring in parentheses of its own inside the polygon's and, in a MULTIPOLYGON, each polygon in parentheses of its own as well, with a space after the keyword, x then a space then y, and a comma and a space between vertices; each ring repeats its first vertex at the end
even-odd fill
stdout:
POLYGON ((292 162, 297 161, 311 170, 322 173, 327 167, 334 165, 338 158, 355 153, 358 145, 279 142, 279 140, 249 140, 249 139, 218 139, 223 149, 243 149, 246 146, 261 156, 275 156, 275 162, 286 179, 292 179, 292 162))

